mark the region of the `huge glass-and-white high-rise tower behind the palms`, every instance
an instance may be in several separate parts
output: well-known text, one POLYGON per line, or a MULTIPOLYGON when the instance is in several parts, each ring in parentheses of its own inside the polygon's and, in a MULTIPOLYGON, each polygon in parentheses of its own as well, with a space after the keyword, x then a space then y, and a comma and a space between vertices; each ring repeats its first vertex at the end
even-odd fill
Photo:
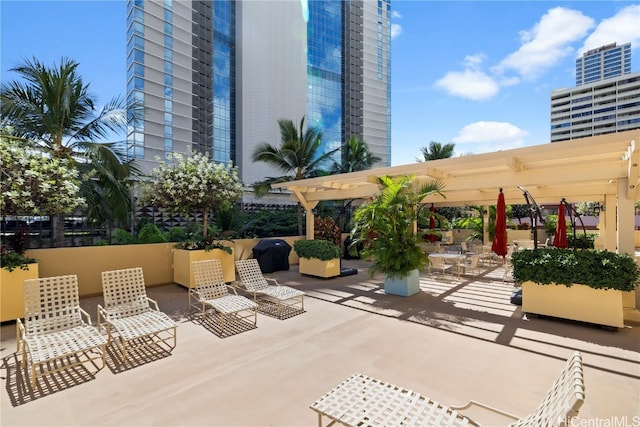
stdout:
POLYGON ((251 185, 281 174, 255 147, 303 117, 322 151, 355 135, 390 165, 390 0, 128 0, 127 24, 127 148, 143 170, 192 148, 251 185))

